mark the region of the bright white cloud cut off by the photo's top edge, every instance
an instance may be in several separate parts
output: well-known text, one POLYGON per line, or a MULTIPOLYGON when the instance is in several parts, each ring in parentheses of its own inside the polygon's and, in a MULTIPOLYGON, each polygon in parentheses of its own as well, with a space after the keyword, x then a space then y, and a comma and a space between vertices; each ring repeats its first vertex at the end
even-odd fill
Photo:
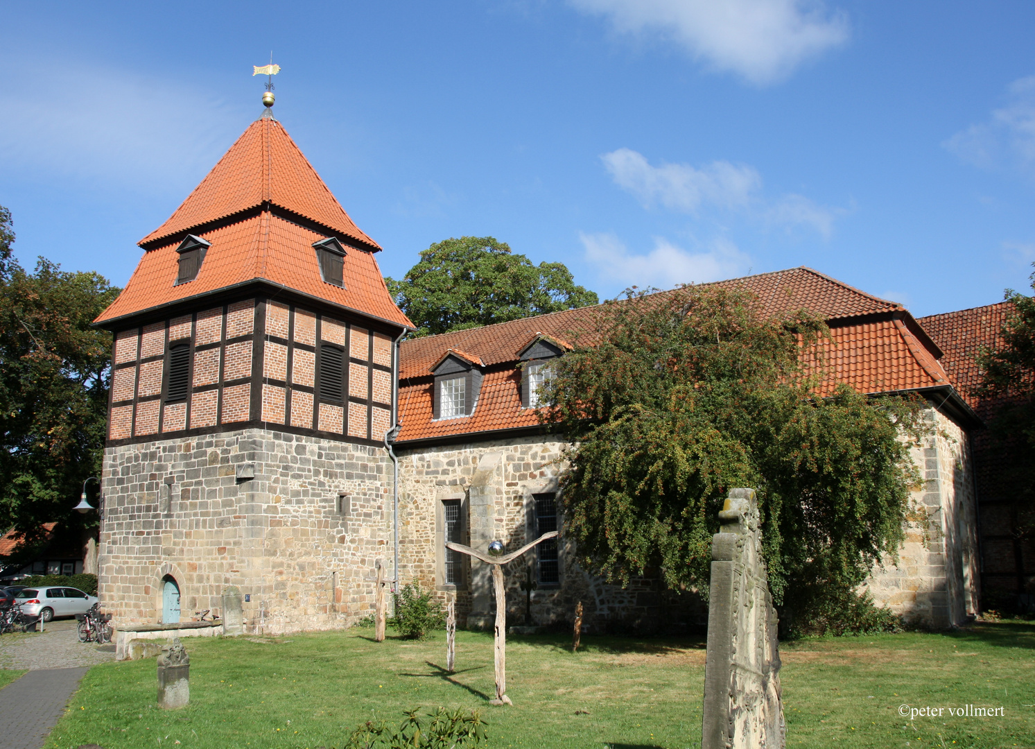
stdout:
POLYGON ((764 85, 849 36, 844 12, 822 0, 570 0, 605 16, 619 33, 651 33, 683 47, 694 59, 764 85))

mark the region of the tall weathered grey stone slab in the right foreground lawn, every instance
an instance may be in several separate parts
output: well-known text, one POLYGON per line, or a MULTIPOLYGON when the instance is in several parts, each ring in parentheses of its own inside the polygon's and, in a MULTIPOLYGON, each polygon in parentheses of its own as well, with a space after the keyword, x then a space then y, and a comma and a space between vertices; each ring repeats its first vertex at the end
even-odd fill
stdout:
POLYGON ((731 489, 712 537, 702 749, 783 749, 779 644, 753 489, 731 489))

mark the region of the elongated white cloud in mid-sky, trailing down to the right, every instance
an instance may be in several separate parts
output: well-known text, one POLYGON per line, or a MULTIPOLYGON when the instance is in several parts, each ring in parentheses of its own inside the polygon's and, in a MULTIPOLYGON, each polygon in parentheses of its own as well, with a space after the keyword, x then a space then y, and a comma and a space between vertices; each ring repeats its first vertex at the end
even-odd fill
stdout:
POLYGON ((600 156, 615 183, 650 207, 660 204, 699 215, 704 208, 738 211, 787 229, 804 226, 829 237, 836 213, 801 195, 774 200, 762 195, 762 175, 749 166, 726 161, 697 168, 689 164, 651 166, 640 152, 619 148, 600 156))

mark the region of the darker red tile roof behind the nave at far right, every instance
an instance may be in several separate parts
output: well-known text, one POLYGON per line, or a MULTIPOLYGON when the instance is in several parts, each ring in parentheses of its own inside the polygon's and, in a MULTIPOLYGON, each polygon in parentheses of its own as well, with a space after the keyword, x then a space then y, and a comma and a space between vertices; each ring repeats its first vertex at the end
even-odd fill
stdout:
POLYGON ((1003 324, 1015 309, 1012 301, 1000 301, 998 305, 928 315, 917 320, 944 352, 942 366, 952 384, 979 413, 981 404, 974 396, 975 388, 981 383, 977 356, 982 348, 994 349, 1003 345, 1003 324))

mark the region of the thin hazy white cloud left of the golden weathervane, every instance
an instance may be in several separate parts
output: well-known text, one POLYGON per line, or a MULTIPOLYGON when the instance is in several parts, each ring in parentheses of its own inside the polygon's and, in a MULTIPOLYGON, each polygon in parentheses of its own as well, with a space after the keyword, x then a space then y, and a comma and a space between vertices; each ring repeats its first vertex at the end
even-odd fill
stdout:
POLYGON ((7 64, 0 165, 45 179, 180 192, 247 121, 205 91, 94 62, 85 78, 81 64, 7 64))

